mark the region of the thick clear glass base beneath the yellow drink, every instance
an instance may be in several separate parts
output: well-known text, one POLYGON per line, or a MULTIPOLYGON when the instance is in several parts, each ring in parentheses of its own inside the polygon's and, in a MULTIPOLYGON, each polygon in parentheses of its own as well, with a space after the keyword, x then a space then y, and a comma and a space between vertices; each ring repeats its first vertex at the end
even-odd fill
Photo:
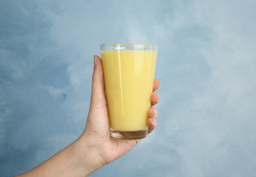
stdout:
POLYGON ((110 129, 110 135, 112 138, 122 139, 122 140, 138 140, 142 138, 146 138, 148 135, 148 129, 140 130, 140 131, 116 131, 114 129, 110 129))

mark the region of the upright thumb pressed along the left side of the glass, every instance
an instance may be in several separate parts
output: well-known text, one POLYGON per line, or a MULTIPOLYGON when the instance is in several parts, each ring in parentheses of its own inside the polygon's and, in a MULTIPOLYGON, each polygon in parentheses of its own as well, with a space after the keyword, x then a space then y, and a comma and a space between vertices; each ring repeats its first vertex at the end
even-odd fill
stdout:
POLYGON ((93 83, 91 92, 91 106, 105 106, 105 88, 103 78, 103 67, 101 59, 95 55, 93 57, 94 69, 93 69, 93 83))

